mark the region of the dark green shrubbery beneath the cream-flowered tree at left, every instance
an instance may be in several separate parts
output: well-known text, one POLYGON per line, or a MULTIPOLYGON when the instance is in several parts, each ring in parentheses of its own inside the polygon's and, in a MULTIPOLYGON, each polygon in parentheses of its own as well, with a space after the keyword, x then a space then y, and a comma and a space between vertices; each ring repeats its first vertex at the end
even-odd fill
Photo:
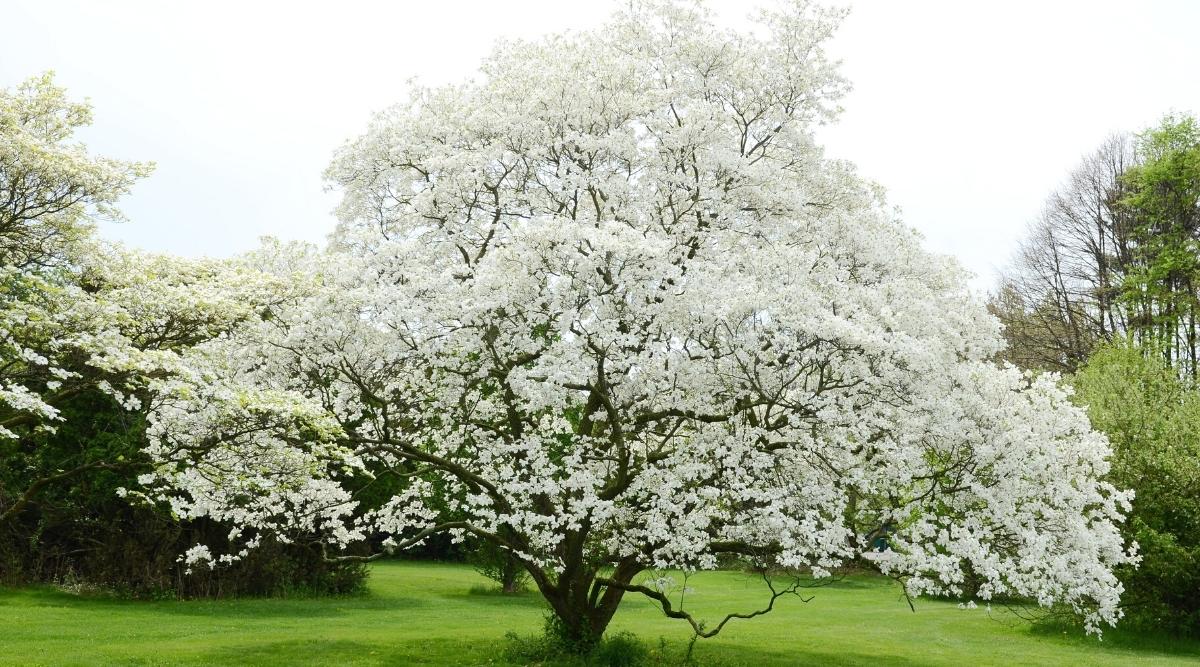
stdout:
POLYGON ((137 488, 149 471, 142 415, 100 392, 62 404, 55 433, 0 441, 0 506, 30 480, 82 462, 119 463, 48 485, 23 511, 0 523, 0 584, 67 583, 130 597, 341 595, 361 590, 366 567, 326 563, 319 549, 264 540, 241 561, 188 575, 179 555, 197 543, 239 551, 229 527, 180 522, 166 507, 134 504, 118 489, 137 488))

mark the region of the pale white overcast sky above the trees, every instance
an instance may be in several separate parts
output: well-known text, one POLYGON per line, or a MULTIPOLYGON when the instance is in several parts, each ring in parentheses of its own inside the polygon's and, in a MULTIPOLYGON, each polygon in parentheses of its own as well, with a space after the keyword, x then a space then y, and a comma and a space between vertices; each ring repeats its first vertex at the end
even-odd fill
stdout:
MULTIPOLYGON (((730 20, 750 7, 709 5, 730 20)), ((1200 2, 850 5, 829 49, 854 91, 820 136, 977 289, 1108 134, 1200 113, 1200 2)), ((131 222, 106 236, 224 257, 260 235, 323 240, 334 149, 410 77, 462 79, 497 37, 587 29, 612 6, 17 0, 2 12, 0 86, 54 70, 95 106, 95 152, 157 162, 125 200, 131 222)))

